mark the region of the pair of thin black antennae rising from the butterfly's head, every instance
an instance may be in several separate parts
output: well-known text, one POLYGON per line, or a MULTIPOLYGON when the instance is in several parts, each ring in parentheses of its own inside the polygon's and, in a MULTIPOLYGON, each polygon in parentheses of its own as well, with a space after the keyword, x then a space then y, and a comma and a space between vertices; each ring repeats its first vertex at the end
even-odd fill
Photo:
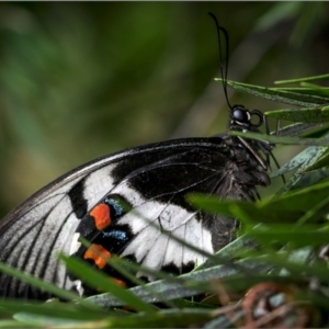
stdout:
POLYGON ((217 18, 213 13, 208 13, 208 15, 214 20, 216 24, 216 31, 217 31, 217 41, 218 41, 218 47, 219 47, 219 69, 220 69, 220 76, 222 76, 222 81, 223 81, 223 89, 225 93, 225 99, 230 109, 231 105, 228 101, 228 95, 227 95, 227 68, 228 68, 228 48, 229 48, 229 38, 228 38, 228 33, 227 31, 218 24, 217 18), (220 42, 220 32, 223 33, 225 37, 225 61, 223 59, 223 50, 222 50, 222 42, 220 42))

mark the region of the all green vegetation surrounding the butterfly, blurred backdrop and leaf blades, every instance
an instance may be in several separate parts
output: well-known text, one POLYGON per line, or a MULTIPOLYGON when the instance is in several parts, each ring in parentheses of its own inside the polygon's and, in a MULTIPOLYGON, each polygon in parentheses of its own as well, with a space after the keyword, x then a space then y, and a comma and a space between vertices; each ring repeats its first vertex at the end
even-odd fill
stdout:
MULTIPOLYGON (((273 80, 328 71, 327 3, 0 8, 2 214, 59 173, 97 156, 168 136, 223 131, 227 105, 220 83, 213 82, 218 53, 208 11, 230 34, 229 78, 272 87, 273 80)), ((328 327, 324 247, 329 240, 329 92, 315 83, 328 86, 328 76, 276 89, 231 83, 251 93, 248 99, 237 94, 232 103, 262 110, 273 122, 285 120, 282 136, 262 138, 280 145, 279 173, 286 174, 287 183, 283 186, 280 178, 274 179, 266 192, 271 196, 256 205, 190 196, 195 205, 242 223, 239 239, 207 264, 179 279, 159 274, 164 281, 136 287, 133 295, 68 261, 86 281, 99 275, 98 286, 111 297, 76 304, 1 302, 0 326, 22 327, 23 321, 24 327, 81 328, 83 321, 86 328, 328 327), (205 292, 209 297, 202 304, 183 299, 205 292), (273 294, 269 305, 263 303, 273 294), (137 311, 101 308, 126 304, 137 311), (248 314, 251 308, 262 314, 257 324, 248 314)), ((113 261, 125 269, 120 260, 113 261)))

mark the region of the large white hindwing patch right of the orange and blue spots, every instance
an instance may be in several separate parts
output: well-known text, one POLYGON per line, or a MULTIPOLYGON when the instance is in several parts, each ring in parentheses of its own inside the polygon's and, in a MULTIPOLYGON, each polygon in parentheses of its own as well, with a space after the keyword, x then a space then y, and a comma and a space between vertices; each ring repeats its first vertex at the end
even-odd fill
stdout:
MULTIPOLYGON (((126 183, 120 184, 112 193, 120 193, 134 206, 134 208, 118 220, 118 225, 129 225, 135 237, 122 252, 122 257, 133 254, 140 264, 159 270, 168 264, 174 264, 179 270, 190 262, 200 264, 206 257, 181 245, 164 230, 189 245, 205 252, 214 253, 212 234, 203 227, 191 213, 173 204, 157 201, 146 201, 126 183)), ((146 275, 141 272, 137 276, 146 275)), ((146 275, 152 280, 150 275, 146 275)))

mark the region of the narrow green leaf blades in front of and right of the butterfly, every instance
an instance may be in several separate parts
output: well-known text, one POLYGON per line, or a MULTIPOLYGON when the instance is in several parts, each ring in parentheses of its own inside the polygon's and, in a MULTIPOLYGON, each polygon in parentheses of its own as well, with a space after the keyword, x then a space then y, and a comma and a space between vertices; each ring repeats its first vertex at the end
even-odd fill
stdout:
MULTIPOLYGON (((261 97, 286 98, 286 103, 300 106, 300 97, 311 100, 307 117, 299 116, 303 134, 291 139, 307 148, 284 164, 273 175, 294 171, 284 186, 268 200, 256 204, 218 200, 207 195, 190 195, 190 201, 207 212, 238 218, 242 226, 240 237, 209 256, 205 264, 179 277, 155 273, 160 280, 136 286, 128 291, 109 282, 102 273, 94 272, 77 260, 61 256, 68 269, 84 282, 94 284, 104 294, 80 299, 76 295, 52 288, 27 274, 11 271, 34 285, 71 300, 53 300, 43 305, 2 300, 1 314, 5 315, 0 326, 52 328, 112 328, 112 327, 326 327, 328 326, 328 120, 315 127, 311 123, 326 105, 321 97, 315 102, 318 87, 308 87, 307 92, 294 89, 286 94, 285 88, 261 89, 229 82, 246 92, 261 97), (300 95, 302 94, 302 95, 300 95), (307 127, 307 125, 309 125, 307 127), (318 134, 315 134, 317 131, 318 134), (319 133, 320 132, 320 133, 319 133), (306 136, 306 137, 305 137, 306 136), (311 140, 325 146, 309 146, 311 140), (306 140, 306 143, 304 143, 306 140), (322 173, 322 174, 319 174, 322 173), (327 174, 324 174, 326 172, 327 174), (305 179, 305 175, 307 179, 305 179), (110 295, 105 294, 110 293, 110 295), (198 302, 189 298, 198 296, 198 302), (205 297, 207 296, 207 297, 205 297), (186 299, 188 298, 188 299, 186 299), (120 307, 129 306, 121 309, 120 307), (166 307, 164 307, 166 306, 166 307), (106 311, 104 309, 107 309, 106 311), (134 310, 134 311, 133 311, 134 310), (133 311, 133 313, 132 313, 133 311), (14 320, 8 320, 13 315, 14 320)), ((329 98, 327 99, 329 103, 329 98)), ((304 104, 308 106, 308 104, 304 104)), ((279 117, 303 112, 303 107, 274 111, 279 117)), ((268 113, 272 115, 271 112, 268 113)), ((295 124, 284 129, 288 136, 296 135, 295 124)), ((243 135, 246 136, 246 135, 243 135)), ((248 138, 260 138, 248 134, 248 138)), ((271 141, 290 143, 286 137, 261 135, 271 141)), ((290 139, 288 138, 288 139, 290 139)), ((189 247, 189 246, 188 246, 189 247)), ((190 246, 193 248, 193 246, 190 246)), ((134 273, 138 265, 112 259, 111 264, 123 273, 134 273)), ((139 268, 138 268, 139 269, 139 268)))

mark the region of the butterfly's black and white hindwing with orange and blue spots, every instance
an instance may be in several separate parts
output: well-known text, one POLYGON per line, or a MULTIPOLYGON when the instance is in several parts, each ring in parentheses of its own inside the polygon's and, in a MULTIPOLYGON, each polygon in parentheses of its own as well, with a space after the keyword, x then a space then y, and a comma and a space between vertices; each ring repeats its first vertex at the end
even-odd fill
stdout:
POLYGON ((214 149, 220 146, 220 138, 214 145, 206 140, 207 147, 201 141, 195 145, 185 141, 174 148, 163 148, 161 152, 155 149, 156 155, 150 158, 139 155, 138 166, 127 157, 114 168, 111 175, 116 184, 111 194, 97 204, 78 227, 78 232, 92 242, 88 249, 79 246, 78 254, 111 274, 111 268, 104 269, 100 260, 105 257, 104 250, 92 252, 92 248, 99 250, 102 246, 107 257, 114 252, 154 270, 170 268, 177 273, 193 269, 205 257, 169 235, 213 253, 212 232, 201 213, 186 203, 185 195, 215 189, 223 179, 223 171, 218 169, 227 159, 214 149))

